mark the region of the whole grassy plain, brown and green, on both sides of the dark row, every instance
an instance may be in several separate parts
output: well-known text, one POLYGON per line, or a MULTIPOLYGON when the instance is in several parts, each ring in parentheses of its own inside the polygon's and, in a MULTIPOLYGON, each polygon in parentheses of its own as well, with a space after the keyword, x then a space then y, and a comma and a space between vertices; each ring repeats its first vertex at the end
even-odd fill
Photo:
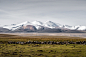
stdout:
POLYGON ((28 36, 0 34, 0 57, 86 57, 86 45, 7 44, 8 41, 86 41, 67 36, 28 36))

